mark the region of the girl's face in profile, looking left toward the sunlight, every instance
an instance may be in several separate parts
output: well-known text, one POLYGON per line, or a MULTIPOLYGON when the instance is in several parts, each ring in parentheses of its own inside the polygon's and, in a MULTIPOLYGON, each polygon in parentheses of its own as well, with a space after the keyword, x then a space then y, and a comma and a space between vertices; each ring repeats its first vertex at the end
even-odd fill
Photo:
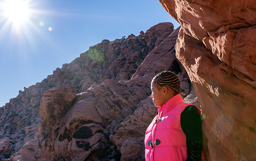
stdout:
POLYGON ((160 107, 164 105, 166 103, 164 99, 164 89, 152 81, 151 90, 152 90, 152 94, 150 97, 152 97, 152 100, 155 106, 160 107))

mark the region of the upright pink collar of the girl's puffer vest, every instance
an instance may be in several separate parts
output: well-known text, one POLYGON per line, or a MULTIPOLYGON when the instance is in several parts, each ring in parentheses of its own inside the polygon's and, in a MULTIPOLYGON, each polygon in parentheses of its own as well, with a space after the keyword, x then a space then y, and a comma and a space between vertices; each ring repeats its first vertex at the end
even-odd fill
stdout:
POLYGON ((165 105, 162 105, 158 108, 158 114, 162 115, 166 112, 170 111, 172 108, 174 108, 176 105, 179 105, 183 102, 183 97, 178 94, 172 97, 170 100, 168 100, 165 105))

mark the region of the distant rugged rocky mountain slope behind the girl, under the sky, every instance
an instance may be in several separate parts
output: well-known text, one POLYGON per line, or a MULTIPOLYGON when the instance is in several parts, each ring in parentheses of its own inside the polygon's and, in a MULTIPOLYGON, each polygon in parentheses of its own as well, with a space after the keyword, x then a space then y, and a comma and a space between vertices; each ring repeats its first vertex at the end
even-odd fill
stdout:
MULTIPOLYGON (((143 161, 144 133, 157 112, 149 97, 152 77, 175 71, 183 92, 191 92, 175 57, 178 32, 160 23, 139 36, 103 40, 24 88, 0 108, 1 158, 143 161)), ((187 101, 198 103, 192 95, 187 101)))

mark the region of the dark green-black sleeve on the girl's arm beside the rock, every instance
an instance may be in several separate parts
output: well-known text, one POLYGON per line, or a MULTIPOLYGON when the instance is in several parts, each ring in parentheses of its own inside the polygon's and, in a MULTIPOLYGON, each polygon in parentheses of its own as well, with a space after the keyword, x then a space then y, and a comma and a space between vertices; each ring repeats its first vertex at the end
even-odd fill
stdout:
POLYGON ((181 128, 187 138, 186 161, 201 161, 202 159, 202 124, 201 114, 197 107, 189 105, 180 115, 181 128))

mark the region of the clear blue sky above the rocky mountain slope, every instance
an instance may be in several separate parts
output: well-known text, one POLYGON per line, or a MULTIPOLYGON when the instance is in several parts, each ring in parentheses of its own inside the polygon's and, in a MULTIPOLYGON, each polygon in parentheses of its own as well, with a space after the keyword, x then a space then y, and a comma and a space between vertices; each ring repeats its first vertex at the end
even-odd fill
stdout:
POLYGON ((161 22, 179 26, 158 0, 0 0, 0 107, 89 46, 161 22), (15 13, 21 5, 8 15, 8 1, 12 9, 25 2, 26 18, 17 18, 25 10, 15 13))

